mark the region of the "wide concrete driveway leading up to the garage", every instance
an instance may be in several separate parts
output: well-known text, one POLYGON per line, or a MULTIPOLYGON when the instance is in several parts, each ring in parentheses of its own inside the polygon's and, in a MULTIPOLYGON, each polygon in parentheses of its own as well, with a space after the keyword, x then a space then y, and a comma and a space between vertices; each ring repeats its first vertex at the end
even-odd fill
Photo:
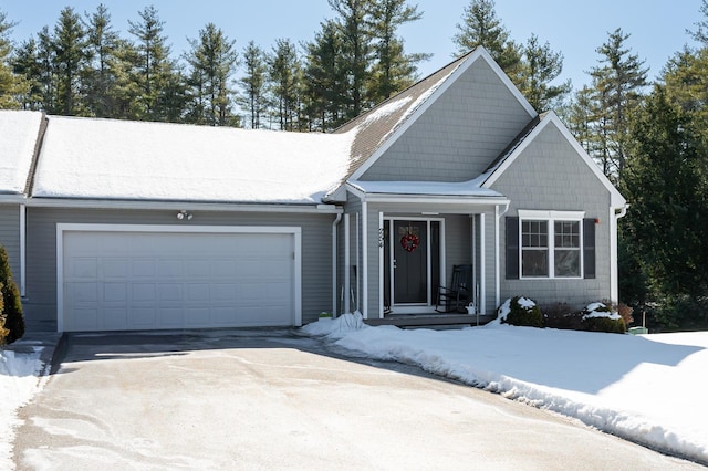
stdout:
POLYGON ((289 331, 72 335, 18 469, 702 469, 289 331))

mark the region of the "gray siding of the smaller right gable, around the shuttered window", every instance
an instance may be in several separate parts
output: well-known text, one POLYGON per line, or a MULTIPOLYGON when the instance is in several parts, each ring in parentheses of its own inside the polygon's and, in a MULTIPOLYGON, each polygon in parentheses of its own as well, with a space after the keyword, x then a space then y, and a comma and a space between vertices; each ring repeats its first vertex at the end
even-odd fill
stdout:
MULTIPOLYGON (((597 218, 601 221, 595 228, 595 279, 506 280, 502 273, 501 301, 525 295, 540 304, 565 302, 579 307, 589 302, 610 299, 610 192, 555 126, 549 125, 543 129, 494 182, 493 189, 512 201, 506 216, 517 216, 519 209, 585 211, 586 218, 597 218)), ((503 248, 503 223, 500 230, 500 243, 503 248)), ((500 252, 500 262, 503 271, 503 250, 500 252)))

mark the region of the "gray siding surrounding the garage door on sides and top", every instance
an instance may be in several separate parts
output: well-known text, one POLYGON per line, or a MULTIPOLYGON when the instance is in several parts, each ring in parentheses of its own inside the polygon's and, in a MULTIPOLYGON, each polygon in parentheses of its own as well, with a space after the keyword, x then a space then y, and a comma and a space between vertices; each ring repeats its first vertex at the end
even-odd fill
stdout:
MULTIPOLYGON (((170 210, 28 208, 28 329, 56 329, 56 223, 175 224, 170 210)), ((194 226, 293 226, 302 229, 302 322, 332 310, 332 222, 334 214, 195 211, 194 226)))

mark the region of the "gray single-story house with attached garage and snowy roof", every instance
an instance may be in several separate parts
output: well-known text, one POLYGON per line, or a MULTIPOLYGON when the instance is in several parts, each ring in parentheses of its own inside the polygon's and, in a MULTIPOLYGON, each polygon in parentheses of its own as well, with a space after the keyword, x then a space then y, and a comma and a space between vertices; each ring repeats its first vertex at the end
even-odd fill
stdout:
POLYGON ((441 323, 461 264, 482 315, 617 300, 624 198, 481 48, 330 134, 29 112, 0 129, 29 328, 441 323))

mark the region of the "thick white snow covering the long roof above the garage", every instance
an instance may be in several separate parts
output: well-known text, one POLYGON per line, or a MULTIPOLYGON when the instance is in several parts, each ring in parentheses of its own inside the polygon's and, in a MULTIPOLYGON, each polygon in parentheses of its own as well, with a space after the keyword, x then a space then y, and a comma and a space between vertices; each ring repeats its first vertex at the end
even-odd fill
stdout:
POLYGON ((283 133, 51 116, 34 197, 320 202, 352 133, 283 133))

